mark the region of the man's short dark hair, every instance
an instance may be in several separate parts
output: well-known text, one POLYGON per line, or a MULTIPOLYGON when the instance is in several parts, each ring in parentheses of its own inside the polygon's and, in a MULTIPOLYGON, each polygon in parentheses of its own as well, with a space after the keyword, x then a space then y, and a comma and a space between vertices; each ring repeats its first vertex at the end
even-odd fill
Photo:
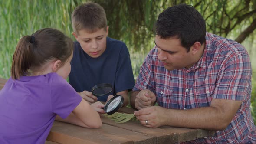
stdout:
POLYGON ((206 27, 203 16, 192 6, 179 4, 159 14, 155 25, 161 39, 177 38, 189 52, 195 42, 205 42, 206 27))

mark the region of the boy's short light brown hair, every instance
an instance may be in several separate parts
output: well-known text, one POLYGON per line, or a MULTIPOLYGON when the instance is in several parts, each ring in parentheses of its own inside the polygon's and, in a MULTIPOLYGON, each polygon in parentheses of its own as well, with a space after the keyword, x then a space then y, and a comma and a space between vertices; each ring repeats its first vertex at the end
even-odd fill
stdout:
POLYGON ((98 3, 87 2, 75 8, 72 13, 72 27, 76 34, 86 29, 93 33, 98 29, 107 28, 107 17, 105 10, 98 3))

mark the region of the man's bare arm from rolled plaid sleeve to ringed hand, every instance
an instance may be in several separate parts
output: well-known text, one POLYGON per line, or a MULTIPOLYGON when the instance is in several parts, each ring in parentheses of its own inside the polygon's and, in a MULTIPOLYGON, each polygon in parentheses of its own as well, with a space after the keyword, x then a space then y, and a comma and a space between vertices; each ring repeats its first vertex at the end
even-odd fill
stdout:
POLYGON ((241 103, 242 101, 213 99, 208 107, 183 110, 152 106, 135 111, 134 115, 141 124, 150 128, 170 125, 221 131, 230 124, 241 103))

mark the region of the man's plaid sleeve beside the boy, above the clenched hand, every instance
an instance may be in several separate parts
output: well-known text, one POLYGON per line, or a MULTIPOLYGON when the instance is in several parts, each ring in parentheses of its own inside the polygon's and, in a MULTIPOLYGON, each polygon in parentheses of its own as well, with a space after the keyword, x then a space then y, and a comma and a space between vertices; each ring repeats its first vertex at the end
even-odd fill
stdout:
POLYGON ((133 91, 141 91, 143 89, 148 89, 152 92, 154 92, 154 81, 152 72, 151 72, 151 52, 147 55, 145 58, 143 64, 141 65, 141 69, 138 75, 138 78, 136 80, 135 86, 132 89, 133 91))

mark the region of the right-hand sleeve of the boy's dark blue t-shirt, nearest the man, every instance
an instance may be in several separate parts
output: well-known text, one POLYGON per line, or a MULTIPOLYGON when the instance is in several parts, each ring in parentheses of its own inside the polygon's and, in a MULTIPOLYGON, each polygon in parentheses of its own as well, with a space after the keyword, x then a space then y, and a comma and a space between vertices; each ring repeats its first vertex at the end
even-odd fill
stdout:
POLYGON ((118 57, 118 68, 115 75, 115 92, 130 91, 134 85, 130 54, 126 45, 123 44, 118 57))

